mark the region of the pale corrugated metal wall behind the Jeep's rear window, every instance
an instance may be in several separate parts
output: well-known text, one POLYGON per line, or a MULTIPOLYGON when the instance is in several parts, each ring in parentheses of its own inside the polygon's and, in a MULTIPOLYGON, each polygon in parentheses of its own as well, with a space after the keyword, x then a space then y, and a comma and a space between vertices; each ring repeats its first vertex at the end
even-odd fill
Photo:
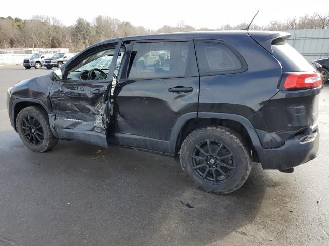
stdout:
POLYGON ((307 60, 329 57, 329 29, 289 30, 288 43, 307 60))

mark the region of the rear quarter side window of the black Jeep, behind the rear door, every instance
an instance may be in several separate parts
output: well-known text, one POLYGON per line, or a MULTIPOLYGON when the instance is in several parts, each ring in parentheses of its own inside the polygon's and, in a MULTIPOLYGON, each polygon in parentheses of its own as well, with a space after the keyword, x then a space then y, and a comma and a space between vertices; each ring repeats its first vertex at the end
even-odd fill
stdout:
POLYGON ((195 42, 200 74, 228 74, 245 71, 240 55, 222 43, 195 42))

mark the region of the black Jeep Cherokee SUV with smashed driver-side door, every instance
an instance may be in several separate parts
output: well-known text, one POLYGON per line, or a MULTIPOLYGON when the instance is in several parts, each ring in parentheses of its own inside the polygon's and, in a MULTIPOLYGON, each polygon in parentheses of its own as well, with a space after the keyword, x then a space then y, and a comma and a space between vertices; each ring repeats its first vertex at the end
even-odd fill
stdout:
POLYGON ((218 31, 106 40, 50 76, 9 88, 11 125, 36 152, 67 139, 179 157, 197 187, 230 193, 252 162, 292 172, 317 155, 322 78, 286 43, 290 36, 218 31), (166 52, 163 64, 140 66, 150 52, 166 52))

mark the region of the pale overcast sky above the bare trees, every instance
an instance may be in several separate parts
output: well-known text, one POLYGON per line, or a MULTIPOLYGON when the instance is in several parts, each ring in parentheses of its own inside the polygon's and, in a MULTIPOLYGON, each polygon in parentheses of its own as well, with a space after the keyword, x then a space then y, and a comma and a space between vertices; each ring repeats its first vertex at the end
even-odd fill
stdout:
MULTIPOLYGON (((72 25, 79 17, 91 21, 98 15, 127 20, 134 26, 157 29, 165 24, 176 26, 179 20, 196 28, 217 28, 221 25, 237 25, 250 22, 260 10, 254 24, 266 25, 270 20, 286 20, 314 12, 329 12, 315 1, 179 1, 179 0, 66 0, 26 1, 2 0, 0 17, 28 19, 32 15, 57 17, 64 25, 72 25), (194 4, 195 3, 195 4, 194 4)), ((326 6, 325 4, 322 6, 326 6)))

